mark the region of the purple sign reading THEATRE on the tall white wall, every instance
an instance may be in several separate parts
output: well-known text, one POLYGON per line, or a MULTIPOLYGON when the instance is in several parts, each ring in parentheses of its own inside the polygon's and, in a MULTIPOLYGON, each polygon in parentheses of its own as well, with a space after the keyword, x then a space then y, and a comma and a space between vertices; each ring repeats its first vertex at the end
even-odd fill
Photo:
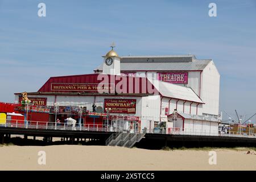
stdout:
POLYGON ((188 72, 163 72, 158 73, 158 80, 172 84, 188 84, 188 72))

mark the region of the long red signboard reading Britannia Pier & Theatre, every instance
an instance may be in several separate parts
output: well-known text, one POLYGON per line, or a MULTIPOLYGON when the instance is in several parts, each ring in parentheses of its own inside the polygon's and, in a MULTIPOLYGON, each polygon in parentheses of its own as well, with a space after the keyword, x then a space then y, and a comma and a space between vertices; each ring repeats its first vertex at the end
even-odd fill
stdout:
POLYGON ((51 84, 51 90, 54 91, 61 91, 61 92, 97 92, 97 91, 113 91, 114 85, 109 84, 109 86, 106 86, 107 84, 67 84, 67 83, 52 83, 51 84))

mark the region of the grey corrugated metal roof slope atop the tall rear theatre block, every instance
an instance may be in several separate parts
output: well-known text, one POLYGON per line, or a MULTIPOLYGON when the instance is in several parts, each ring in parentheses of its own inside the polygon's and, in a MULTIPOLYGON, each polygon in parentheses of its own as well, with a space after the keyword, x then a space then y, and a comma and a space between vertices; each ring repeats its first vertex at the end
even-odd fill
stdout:
MULTIPOLYGON (((121 71, 203 71, 212 60, 193 60, 187 63, 120 63, 121 71)), ((102 71, 103 63, 95 70, 102 71)))

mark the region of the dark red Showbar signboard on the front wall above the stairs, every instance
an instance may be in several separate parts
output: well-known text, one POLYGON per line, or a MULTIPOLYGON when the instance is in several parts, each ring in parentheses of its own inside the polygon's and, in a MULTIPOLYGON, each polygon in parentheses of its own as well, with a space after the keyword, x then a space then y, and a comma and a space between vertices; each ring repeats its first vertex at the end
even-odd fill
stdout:
POLYGON ((110 113, 136 113, 136 100, 135 99, 105 99, 104 107, 110 109, 110 113))

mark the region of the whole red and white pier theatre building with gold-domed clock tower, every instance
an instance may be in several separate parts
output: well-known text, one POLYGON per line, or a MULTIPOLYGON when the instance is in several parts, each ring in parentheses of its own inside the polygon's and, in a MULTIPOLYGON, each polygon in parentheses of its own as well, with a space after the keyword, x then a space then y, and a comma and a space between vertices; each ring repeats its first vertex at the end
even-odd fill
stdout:
MULTIPOLYGON (((94 74, 50 77, 37 92, 27 94, 31 100, 45 101, 45 106, 81 105, 92 115, 102 113, 102 119, 97 120, 102 125, 106 122, 104 113, 110 109, 114 126, 124 129, 134 129, 139 123, 140 130, 146 127, 153 131, 159 123, 166 123, 167 133, 217 134, 219 89, 220 75, 212 60, 197 60, 193 55, 120 57, 111 50, 94 74), (113 92, 93 89, 95 85, 102 86, 104 75, 117 78, 118 81, 108 81, 113 92), (127 81, 123 84, 127 88, 122 86, 120 92, 117 89, 123 80, 127 81), (118 103, 122 104, 116 107, 118 103)), ((20 93, 15 94, 16 102, 19 96, 20 93)), ((82 122, 92 123, 92 119, 84 116, 82 122)))

